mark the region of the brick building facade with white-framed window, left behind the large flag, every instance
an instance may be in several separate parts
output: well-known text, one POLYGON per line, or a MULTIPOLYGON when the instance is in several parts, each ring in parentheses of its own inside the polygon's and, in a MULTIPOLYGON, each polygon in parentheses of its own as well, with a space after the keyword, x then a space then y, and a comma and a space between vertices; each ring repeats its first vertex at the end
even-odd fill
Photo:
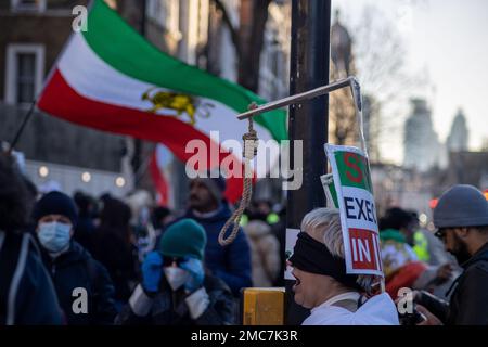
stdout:
MULTIPOLYGON (((88 1, 0 1, 0 140, 11 142, 72 31, 76 5, 88 1)), ((35 112, 15 150, 39 187, 123 195, 130 187, 121 137, 35 112), (97 155, 93 155, 97 153, 97 155), (104 182, 101 192, 98 182, 104 182), (51 184, 52 185, 52 184, 51 184)))

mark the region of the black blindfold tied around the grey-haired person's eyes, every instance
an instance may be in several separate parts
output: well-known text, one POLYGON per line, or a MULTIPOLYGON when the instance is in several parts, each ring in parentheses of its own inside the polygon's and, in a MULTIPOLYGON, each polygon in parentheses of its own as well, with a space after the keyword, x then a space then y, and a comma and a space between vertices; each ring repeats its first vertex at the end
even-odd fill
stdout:
POLYGON ((358 277, 346 273, 345 260, 333 256, 323 243, 318 242, 305 232, 298 233, 293 256, 290 257, 288 261, 293 267, 300 270, 330 275, 348 287, 362 291, 356 283, 358 277))

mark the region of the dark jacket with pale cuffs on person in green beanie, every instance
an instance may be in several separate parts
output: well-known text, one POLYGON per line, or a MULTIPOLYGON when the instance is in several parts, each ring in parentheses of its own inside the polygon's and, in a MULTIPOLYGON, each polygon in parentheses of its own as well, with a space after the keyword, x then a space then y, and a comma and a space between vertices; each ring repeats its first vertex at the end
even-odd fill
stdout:
POLYGON ((166 280, 163 280, 162 288, 159 293, 151 297, 141 285, 138 285, 129 304, 117 316, 115 323, 121 325, 230 325, 235 323, 232 293, 227 284, 216 277, 206 274, 203 287, 191 295, 185 295, 183 290, 172 292, 166 280), (189 309, 190 306, 193 308, 192 311, 189 309))

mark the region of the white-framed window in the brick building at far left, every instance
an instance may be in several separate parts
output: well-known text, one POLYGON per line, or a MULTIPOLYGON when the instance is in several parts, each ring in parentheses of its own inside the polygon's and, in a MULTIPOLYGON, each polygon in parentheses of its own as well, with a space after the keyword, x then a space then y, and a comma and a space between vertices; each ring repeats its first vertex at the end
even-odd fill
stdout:
POLYGON ((9 44, 7 48, 5 102, 27 104, 40 91, 44 75, 41 44, 9 44))

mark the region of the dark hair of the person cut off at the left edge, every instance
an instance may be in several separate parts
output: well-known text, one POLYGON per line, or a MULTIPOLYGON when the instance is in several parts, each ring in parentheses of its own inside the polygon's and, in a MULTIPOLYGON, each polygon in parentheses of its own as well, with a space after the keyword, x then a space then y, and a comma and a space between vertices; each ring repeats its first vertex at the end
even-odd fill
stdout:
POLYGON ((31 200, 15 160, 0 153, 0 229, 10 232, 28 222, 31 200))

